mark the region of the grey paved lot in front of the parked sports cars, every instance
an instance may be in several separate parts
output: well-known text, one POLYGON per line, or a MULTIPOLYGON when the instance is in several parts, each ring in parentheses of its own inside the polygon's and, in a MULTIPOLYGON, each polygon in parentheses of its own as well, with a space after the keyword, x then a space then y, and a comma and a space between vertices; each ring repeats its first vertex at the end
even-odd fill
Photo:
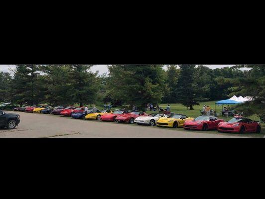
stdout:
POLYGON ((71 117, 16 112, 21 122, 14 130, 0 129, 0 138, 233 138, 248 137, 217 131, 183 129, 88 121, 71 117))

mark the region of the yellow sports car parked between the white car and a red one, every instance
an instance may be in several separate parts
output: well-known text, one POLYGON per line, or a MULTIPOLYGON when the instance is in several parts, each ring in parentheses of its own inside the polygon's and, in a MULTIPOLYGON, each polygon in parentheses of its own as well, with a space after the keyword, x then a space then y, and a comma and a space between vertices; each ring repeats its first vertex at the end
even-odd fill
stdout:
POLYGON ((186 115, 182 114, 173 114, 168 118, 161 117, 157 121, 157 126, 165 126, 165 127, 171 127, 171 128, 178 128, 178 127, 183 127, 184 122, 186 120, 192 120, 194 118, 192 117, 187 117, 186 115))

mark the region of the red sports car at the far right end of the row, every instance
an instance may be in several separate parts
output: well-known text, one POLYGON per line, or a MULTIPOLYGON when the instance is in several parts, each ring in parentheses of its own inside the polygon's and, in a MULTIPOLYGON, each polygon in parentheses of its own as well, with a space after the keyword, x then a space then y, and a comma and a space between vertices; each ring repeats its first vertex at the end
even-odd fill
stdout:
POLYGON ((261 124, 248 118, 232 118, 228 122, 220 122, 217 130, 228 133, 260 133, 261 124))

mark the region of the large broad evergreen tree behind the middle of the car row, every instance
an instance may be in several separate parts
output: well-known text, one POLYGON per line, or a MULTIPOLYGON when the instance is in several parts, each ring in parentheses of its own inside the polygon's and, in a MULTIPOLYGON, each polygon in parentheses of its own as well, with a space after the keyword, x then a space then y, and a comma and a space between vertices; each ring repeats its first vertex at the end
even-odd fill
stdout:
POLYGON ((109 76, 113 98, 142 110, 147 103, 161 102, 166 89, 163 65, 112 65, 109 76))

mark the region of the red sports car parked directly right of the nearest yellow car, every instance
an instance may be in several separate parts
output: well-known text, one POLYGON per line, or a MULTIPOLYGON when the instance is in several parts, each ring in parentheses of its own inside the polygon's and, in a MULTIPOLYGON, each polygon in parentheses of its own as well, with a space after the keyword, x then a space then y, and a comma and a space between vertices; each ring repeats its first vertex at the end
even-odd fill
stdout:
POLYGON ((210 130, 217 129, 217 125, 223 122, 223 119, 218 119, 214 116, 199 116, 194 120, 187 120, 184 123, 184 129, 194 129, 194 130, 210 130))

